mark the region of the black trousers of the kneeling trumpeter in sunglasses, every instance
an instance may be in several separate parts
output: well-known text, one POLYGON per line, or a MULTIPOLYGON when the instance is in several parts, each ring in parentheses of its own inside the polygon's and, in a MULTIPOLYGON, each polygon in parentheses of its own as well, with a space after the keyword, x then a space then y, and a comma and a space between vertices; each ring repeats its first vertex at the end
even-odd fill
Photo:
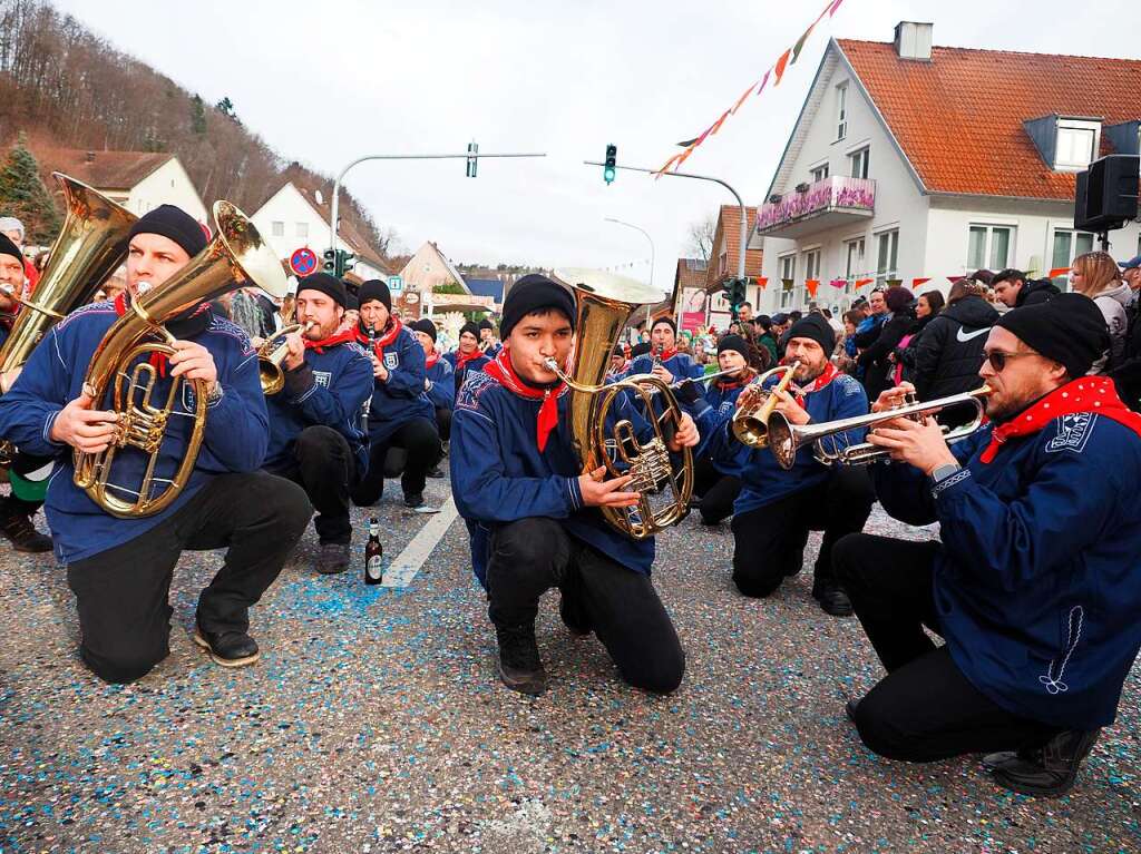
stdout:
POLYGON ((836 574, 888 670, 856 709, 860 738, 881 756, 905 762, 1045 743, 1057 727, 995 703, 923 632, 939 631, 932 566, 941 548, 853 534, 833 551, 836 574))

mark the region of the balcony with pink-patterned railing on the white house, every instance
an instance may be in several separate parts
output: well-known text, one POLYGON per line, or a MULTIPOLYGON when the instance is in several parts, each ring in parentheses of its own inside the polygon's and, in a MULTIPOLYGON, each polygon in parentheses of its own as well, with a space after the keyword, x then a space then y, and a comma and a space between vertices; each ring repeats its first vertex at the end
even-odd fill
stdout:
POLYGON ((875 181, 867 178, 833 176, 800 186, 803 192, 792 190, 779 202, 761 205, 758 235, 798 239, 875 214, 875 181))

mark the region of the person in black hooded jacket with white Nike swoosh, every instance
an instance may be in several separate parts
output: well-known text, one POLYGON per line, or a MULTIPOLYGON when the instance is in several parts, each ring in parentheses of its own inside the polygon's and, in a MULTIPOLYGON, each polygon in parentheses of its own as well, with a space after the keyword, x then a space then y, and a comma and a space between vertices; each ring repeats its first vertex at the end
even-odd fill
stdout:
MULTIPOLYGON (((911 382, 920 400, 958 395, 981 385, 979 367, 987 333, 998 320, 998 312, 986 301, 982 285, 960 279, 950 287, 947 308, 926 325, 915 345, 911 382)), ((956 406, 940 414, 939 422, 966 424, 974 417, 973 406, 956 406)))

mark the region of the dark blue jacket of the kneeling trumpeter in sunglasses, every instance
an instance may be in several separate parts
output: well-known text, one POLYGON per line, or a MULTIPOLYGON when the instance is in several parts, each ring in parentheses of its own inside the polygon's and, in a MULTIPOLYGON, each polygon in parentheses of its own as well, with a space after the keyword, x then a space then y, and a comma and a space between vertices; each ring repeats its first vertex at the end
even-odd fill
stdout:
POLYGON ((938 521, 939 631, 979 691, 1008 711, 1092 730, 1112 723, 1141 645, 1141 440, 1095 414, 1010 439, 990 426, 952 447, 964 467, 931 486, 874 466, 884 509, 938 521))

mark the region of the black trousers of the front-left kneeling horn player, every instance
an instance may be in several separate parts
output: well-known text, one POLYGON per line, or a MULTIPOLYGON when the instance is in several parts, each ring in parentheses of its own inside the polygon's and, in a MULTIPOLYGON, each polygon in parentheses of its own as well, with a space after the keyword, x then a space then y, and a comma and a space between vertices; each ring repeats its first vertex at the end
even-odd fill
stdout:
POLYGON ((199 596, 207 632, 245 632, 301 537, 313 507, 301 487, 265 472, 221 474, 173 515, 115 548, 67 567, 80 657, 99 678, 133 682, 170 653, 170 581, 184 550, 227 548, 199 596))

